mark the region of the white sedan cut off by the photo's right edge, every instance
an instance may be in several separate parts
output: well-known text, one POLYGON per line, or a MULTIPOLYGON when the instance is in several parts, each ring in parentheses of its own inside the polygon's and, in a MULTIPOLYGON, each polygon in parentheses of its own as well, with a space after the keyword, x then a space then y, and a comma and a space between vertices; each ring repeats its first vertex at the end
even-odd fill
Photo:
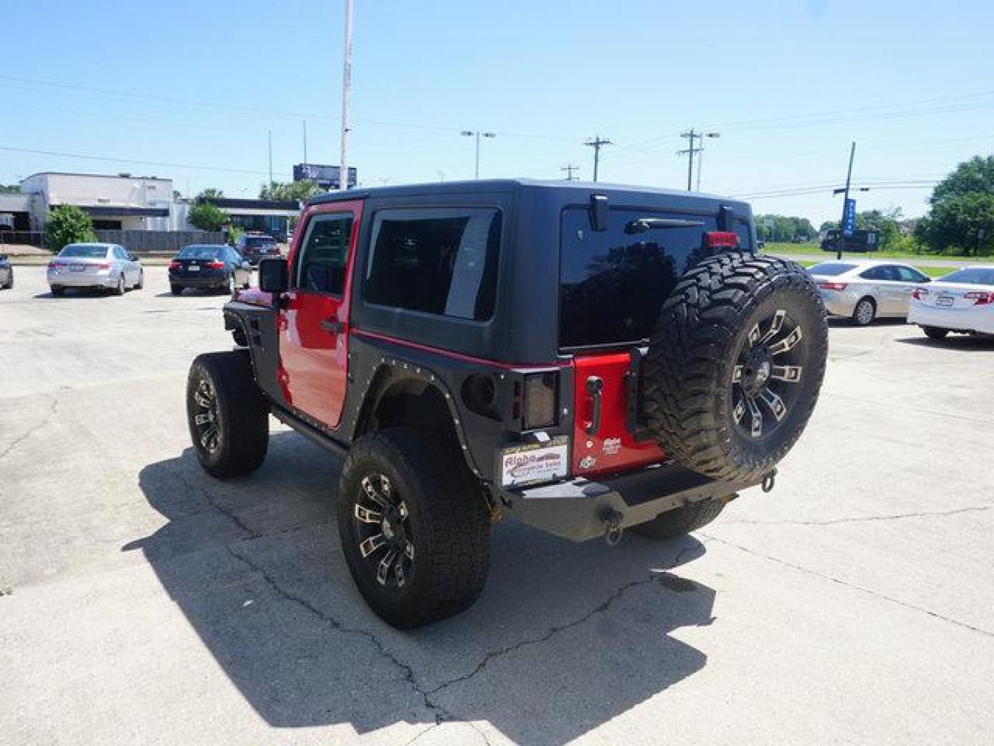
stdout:
POLYGON ((994 334, 994 267, 966 267, 915 287, 908 320, 931 339, 950 331, 994 334))

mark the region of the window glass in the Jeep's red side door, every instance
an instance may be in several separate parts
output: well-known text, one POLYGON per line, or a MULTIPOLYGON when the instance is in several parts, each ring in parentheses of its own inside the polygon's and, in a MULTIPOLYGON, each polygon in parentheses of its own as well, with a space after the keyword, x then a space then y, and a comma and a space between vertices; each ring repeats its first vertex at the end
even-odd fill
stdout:
POLYGON ((340 295, 345 290, 352 213, 315 215, 297 253, 293 287, 306 292, 340 295))

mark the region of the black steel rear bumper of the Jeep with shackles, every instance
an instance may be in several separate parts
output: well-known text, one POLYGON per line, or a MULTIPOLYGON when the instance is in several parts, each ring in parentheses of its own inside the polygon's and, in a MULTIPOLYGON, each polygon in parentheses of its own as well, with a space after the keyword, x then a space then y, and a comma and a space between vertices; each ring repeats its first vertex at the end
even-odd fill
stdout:
POLYGON ((565 539, 586 541, 604 535, 609 515, 626 528, 667 510, 724 497, 758 483, 716 481, 682 466, 660 464, 611 478, 576 478, 500 494, 508 515, 565 539))

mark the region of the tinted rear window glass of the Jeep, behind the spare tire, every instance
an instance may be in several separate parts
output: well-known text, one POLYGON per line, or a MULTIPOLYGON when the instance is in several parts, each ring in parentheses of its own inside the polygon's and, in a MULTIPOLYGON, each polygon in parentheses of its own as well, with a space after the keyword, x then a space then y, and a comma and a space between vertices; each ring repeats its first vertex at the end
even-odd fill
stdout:
MULTIPOLYGON (((704 233, 718 230, 715 215, 611 208, 607 230, 594 231, 589 210, 563 212, 560 248, 560 346, 565 349, 639 343, 649 337, 663 300, 677 278, 715 250, 704 233), (683 220, 699 225, 627 233, 639 218, 683 220)), ((751 229, 736 220, 744 249, 751 229)))

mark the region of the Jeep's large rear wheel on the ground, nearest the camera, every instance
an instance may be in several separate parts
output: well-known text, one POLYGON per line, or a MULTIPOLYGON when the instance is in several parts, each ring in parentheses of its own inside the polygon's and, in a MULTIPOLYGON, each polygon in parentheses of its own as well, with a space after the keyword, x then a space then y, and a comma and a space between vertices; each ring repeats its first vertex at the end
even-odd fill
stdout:
POLYGON ((469 608, 490 564, 490 521, 461 456, 413 429, 360 438, 342 467, 338 532, 366 603, 410 629, 469 608))

